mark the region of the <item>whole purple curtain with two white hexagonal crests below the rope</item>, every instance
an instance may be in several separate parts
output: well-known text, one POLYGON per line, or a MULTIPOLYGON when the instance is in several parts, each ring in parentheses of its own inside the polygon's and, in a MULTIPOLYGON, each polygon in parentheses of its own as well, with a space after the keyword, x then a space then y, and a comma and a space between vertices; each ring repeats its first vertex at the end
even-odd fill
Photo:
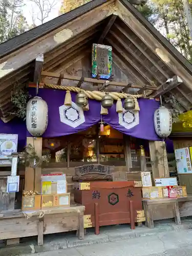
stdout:
MULTIPOLYGON (((29 92, 35 96, 35 89, 29 92)), ((83 130, 100 121, 100 102, 89 99, 89 111, 82 111, 73 103, 65 106, 65 91, 39 89, 38 96, 42 97, 48 104, 49 120, 48 128, 43 137, 60 137, 83 130), (61 120, 62 119, 62 120, 61 120)), ((75 102, 76 93, 71 93, 72 101, 75 102)), ((125 111, 123 114, 116 112, 116 103, 109 109, 108 115, 103 115, 104 122, 114 129, 132 137, 145 140, 161 140, 155 133, 153 116, 159 106, 159 102, 151 99, 139 99, 140 111, 135 114, 125 111)), ((30 136, 26 129, 26 123, 20 119, 14 119, 7 124, 1 121, 0 133, 18 134, 19 147, 25 146, 26 136, 30 136)))

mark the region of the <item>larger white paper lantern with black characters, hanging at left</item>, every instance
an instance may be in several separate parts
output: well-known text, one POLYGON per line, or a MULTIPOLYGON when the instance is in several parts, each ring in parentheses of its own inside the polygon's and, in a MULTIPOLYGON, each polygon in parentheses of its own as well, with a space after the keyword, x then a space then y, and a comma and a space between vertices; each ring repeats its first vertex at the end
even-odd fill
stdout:
POLYGON ((34 97, 27 103, 26 110, 27 130, 34 137, 45 133, 48 125, 48 105, 40 97, 34 97))

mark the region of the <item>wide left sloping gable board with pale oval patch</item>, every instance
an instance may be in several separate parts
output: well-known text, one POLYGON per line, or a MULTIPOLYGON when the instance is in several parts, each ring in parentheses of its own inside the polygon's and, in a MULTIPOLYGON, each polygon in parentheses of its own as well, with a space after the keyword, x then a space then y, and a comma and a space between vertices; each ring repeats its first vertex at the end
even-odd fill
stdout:
POLYGON ((38 55, 45 54, 53 50, 55 47, 63 44, 70 38, 80 34, 82 31, 89 29, 101 20, 110 16, 108 9, 103 10, 103 6, 110 5, 111 2, 105 3, 94 10, 74 19, 72 22, 51 31, 49 34, 31 42, 25 50, 20 49, 15 55, 11 55, 0 66, 0 78, 9 73, 25 66, 34 60, 38 55))

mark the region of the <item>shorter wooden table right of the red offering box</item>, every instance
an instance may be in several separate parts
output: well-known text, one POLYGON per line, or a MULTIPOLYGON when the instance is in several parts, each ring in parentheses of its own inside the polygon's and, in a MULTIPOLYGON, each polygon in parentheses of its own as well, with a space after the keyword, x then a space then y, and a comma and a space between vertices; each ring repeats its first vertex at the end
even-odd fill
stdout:
MULTIPOLYGON (((186 198, 185 198, 186 199, 186 198)), ((143 208, 145 211, 146 226, 154 228, 155 220, 164 220, 175 218, 176 224, 181 224, 179 199, 143 199, 143 208)))

